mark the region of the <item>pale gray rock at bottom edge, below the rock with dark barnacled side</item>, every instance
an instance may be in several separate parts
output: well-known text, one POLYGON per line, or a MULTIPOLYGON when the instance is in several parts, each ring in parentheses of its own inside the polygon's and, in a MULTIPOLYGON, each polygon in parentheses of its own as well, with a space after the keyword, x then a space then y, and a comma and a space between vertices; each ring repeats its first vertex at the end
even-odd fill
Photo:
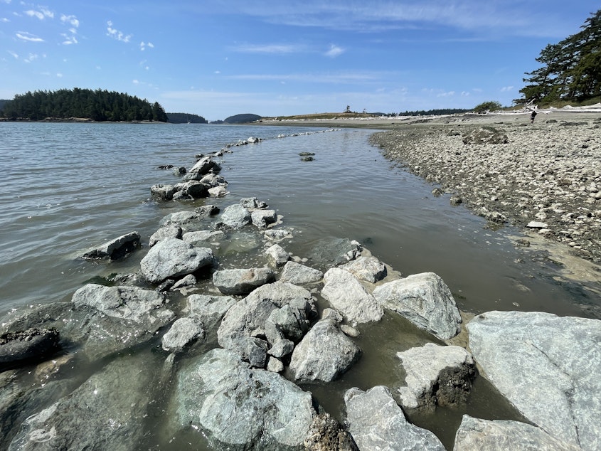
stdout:
POLYGON ((344 403, 349 432, 360 450, 445 451, 436 435, 408 423, 384 386, 351 388, 344 393, 344 403))

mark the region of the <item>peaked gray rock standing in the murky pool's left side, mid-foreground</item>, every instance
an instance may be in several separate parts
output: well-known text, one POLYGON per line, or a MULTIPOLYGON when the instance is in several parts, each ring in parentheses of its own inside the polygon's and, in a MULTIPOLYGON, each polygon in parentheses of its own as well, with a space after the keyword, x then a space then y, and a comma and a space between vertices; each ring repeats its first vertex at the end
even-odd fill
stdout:
POLYGON ((292 352, 289 368, 297 381, 334 381, 361 356, 361 349, 331 319, 321 319, 292 352))

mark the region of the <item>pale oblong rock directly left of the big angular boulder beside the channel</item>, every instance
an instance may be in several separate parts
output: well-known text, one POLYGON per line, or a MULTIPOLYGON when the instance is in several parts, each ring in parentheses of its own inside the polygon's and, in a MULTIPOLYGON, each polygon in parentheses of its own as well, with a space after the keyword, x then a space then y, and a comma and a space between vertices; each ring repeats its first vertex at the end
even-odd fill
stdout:
POLYGON ((321 296, 349 322, 379 321, 383 317, 381 305, 350 272, 331 268, 325 273, 324 282, 321 296))

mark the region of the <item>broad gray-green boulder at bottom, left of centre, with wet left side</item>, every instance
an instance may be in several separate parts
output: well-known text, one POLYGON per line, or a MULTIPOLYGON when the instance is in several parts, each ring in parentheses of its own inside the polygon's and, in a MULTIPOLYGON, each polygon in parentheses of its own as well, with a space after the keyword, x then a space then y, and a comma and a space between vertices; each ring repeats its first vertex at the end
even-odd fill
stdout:
POLYGON ((310 393, 225 349, 179 372, 176 402, 180 428, 200 429, 216 449, 302 449, 316 415, 310 393))

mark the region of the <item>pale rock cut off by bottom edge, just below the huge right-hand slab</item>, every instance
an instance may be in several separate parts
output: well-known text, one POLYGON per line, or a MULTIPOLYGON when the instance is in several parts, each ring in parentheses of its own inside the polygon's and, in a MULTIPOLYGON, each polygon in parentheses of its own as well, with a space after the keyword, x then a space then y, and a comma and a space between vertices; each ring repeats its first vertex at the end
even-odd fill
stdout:
POLYGON ((511 420, 480 420, 463 415, 453 451, 578 451, 541 428, 511 420))

